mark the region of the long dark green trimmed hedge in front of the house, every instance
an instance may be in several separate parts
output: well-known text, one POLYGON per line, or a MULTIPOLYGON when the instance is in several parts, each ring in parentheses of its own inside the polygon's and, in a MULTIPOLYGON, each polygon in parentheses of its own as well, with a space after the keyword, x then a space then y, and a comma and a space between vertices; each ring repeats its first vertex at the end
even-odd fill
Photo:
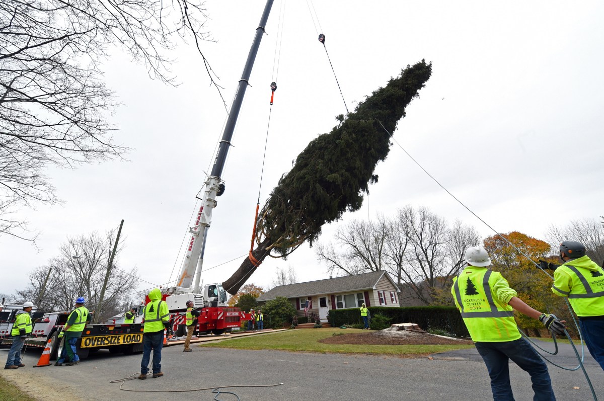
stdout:
MULTIPOLYGON (((457 337, 469 337, 459 310, 454 306, 410 306, 410 307, 368 307, 371 316, 382 315, 392 323, 416 323, 422 330, 441 329, 457 337)), ((329 311, 329 322, 334 327, 342 324, 361 324, 358 308, 335 309, 329 311)))

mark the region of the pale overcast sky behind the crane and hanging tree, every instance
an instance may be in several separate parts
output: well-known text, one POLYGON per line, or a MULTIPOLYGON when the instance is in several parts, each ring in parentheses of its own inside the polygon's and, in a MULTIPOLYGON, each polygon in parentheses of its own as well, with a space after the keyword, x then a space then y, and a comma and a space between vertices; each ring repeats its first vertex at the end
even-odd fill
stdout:
MULTIPOLYGON (((229 103, 264 4, 206 2, 207 27, 218 43, 202 48, 229 103)), ((208 270, 205 283, 230 277, 249 249, 280 7, 276 0, 252 71, 204 268, 236 260, 208 270)), ((316 30, 306 2, 289 1, 285 7, 261 202, 306 144, 329 132, 334 117, 345 113, 317 40, 322 32, 351 111, 401 68, 432 62, 431 79, 394 137, 493 228, 544 238, 550 225, 604 214, 604 3, 315 1, 316 30)), ((25 287, 27 273, 57 255, 66 237, 102 233, 117 228, 121 219, 126 246, 121 268, 137 266, 144 280, 156 284, 169 280, 175 262, 178 272, 176 258, 226 112, 194 48, 180 45, 171 56, 178 59, 173 65, 178 88, 148 79, 144 66, 117 51, 107 63, 108 86, 123 103, 112 117, 120 128, 115 138, 133 148, 130 161, 48 172, 65 204, 22 210, 42 231, 39 252, 27 242, 0 237, 0 292, 25 287)), ((339 224, 376 213, 393 216, 411 204, 492 235, 396 145, 376 173, 369 205, 339 224)), ((320 240, 331 240, 336 226, 325 227, 320 240)), ((275 269, 290 265, 299 281, 327 277, 305 245, 286 261, 267 259, 248 282, 269 287, 275 269)))

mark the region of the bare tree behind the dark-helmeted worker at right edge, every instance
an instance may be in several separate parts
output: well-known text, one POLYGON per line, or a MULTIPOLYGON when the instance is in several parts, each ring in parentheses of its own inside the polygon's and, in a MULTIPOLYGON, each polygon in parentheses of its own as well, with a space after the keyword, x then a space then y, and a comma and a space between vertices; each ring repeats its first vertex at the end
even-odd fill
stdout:
POLYGON ((604 263, 604 224, 596 219, 573 220, 567 226, 550 226, 545 233, 547 242, 558 253, 558 247, 564 241, 579 241, 587 249, 591 260, 604 263))

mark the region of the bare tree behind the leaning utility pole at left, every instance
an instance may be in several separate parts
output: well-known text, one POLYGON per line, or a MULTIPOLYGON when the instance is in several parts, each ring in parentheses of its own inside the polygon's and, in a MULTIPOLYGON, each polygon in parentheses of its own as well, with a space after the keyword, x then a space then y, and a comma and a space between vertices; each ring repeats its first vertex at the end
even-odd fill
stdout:
MULTIPOLYGON (((101 236, 97 233, 88 236, 69 238, 60 248, 60 255, 51 259, 48 266, 38 268, 30 273, 30 284, 24 290, 16 292, 14 299, 18 302, 34 301, 41 298, 40 310, 71 310, 77 297, 86 298, 86 307, 96 309, 101 287, 106 273, 106 265, 111 253, 115 233, 110 231, 101 236), (77 255, 80 258, 74 259, 77 255), (52 274, 47 288, 41 294, 41 288, 48 269, 52 274)), ((138 286, 137 269, 125 271, 120 268, 116 252, 114 265, 109 275, 103 310, 95 311, 102 321, 121 312, 124 304, 130 304, 130 294, 138 286)))

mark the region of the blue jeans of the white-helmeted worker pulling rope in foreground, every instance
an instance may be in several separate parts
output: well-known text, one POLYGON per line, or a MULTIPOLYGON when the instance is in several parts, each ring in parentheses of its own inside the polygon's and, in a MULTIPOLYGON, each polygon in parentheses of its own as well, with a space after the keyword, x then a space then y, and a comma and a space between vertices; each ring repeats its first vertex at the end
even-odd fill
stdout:
POLYGON ((505 342, 477 342, 476 349, 487 365, 493 400, 514 401, 510 385, 509 359, 530 374, 535 392, 533 401, 556 400, 545 362, 524 338, 505 342))

